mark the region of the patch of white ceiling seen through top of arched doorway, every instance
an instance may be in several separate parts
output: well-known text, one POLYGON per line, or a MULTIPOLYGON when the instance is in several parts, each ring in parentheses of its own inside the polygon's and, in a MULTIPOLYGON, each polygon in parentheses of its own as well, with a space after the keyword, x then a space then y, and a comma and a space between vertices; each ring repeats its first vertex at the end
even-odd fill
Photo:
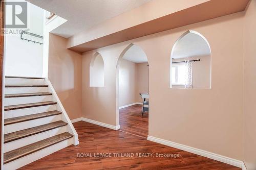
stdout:
POLYGON ((126 53, 124 53, 123 59, 129 60, 135 63, 147 62, 146 54, 138 45, 131 46, 126 51, 126 53))

